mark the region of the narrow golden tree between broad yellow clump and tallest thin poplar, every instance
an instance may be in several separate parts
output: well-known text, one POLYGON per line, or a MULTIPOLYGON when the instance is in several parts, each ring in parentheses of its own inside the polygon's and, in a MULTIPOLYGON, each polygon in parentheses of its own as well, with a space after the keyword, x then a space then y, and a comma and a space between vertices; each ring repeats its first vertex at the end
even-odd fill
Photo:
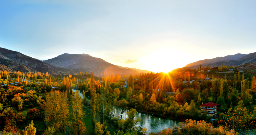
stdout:
POLYGON ((75 97, 71 100, 71 118, 73 122, 74 131, 77 135, 83 134, 85 132, 85 126, 83 123, 84 110, 82 97, 79 95, 78 90, 76 90, 75 97))

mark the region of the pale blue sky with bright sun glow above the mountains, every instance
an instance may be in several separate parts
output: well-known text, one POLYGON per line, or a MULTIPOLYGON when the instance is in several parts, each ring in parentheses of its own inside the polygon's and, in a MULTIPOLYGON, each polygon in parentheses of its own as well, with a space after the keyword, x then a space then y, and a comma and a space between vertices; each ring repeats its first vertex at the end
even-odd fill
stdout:
POLYGON ((238 0, 0 0, 0 46, 40 60, 85 53, 168 72, 256 52, 255 7, 238 0))

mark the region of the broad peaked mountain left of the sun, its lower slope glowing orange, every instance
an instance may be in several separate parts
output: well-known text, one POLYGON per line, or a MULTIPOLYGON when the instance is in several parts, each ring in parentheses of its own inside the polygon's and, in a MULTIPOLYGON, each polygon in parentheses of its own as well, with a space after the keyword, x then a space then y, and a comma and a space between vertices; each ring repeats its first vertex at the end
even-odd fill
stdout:
POLYGON ((87 72, 94 71, 96 76, 110 76, 111 74, 130 75, 139 74, 133 69, 120 68, 116 65, 106 62, 101 58, 95 58, 88 54, 68 54, 64 53, 55 58, 44 61, 53 66, 69 68, 69 69, 84 69, 87 72))

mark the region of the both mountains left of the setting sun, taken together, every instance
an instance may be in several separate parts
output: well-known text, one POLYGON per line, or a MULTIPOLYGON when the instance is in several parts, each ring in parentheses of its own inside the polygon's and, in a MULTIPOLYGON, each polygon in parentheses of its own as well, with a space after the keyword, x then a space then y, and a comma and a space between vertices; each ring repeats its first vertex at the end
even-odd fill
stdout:
POLYGON ((48 72, 51 75, 90 73, 94 71, 95 76, 100 77, 107 77, 111 74, 134 75, 144 71, 134 69, 116 66, 88 54, 64 53, 55 58, 42 61, 17 51, 0 48, 0 71, 48 72))

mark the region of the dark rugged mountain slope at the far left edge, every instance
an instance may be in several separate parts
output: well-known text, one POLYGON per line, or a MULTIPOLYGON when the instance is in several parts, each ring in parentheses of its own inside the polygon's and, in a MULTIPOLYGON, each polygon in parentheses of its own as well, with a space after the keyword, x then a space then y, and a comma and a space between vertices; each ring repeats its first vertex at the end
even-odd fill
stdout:
POLYGON ((52 75, 77 74, 81 71, 84 71, 81 69, 72 70, 67 68, 55 67, 53 65, 44 63, 40 60, 24 55, 20 52, 8 50, 5 48, 0 48, 0 58, 0 64, 10 67, 14 71, 39 71, 44 73, 48 72, 52 75))

